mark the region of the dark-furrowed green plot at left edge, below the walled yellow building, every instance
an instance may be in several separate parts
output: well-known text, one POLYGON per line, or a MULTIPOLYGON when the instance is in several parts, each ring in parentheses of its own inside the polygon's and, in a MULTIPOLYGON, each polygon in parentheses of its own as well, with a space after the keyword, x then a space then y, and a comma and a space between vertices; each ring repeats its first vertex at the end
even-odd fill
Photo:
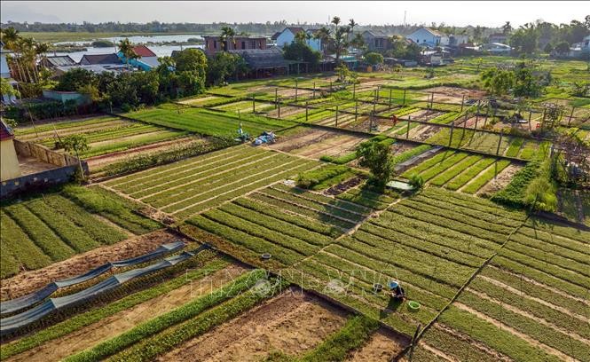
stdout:
POLYGON ((7 261, 2 278, 127 239, 120 229, 93 214, 138 234, 160 227, 145 217, 131 214, 116 197, 80 187, 7 204, 0 216, 3 264, 7 261))

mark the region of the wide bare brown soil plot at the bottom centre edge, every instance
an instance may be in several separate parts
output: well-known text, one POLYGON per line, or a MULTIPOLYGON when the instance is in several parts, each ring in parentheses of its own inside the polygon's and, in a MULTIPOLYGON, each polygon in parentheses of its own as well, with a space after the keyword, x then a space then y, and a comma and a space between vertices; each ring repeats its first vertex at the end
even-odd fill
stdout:
POLYGON ((271 350, 302 355, 345 322, 344 311, 292 288, 158 360, 257 361, 271 350))

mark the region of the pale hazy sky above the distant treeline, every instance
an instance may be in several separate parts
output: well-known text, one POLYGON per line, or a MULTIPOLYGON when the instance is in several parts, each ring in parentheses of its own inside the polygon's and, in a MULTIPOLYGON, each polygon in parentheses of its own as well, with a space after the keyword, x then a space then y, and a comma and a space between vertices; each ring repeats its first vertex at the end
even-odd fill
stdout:
POLYGON ((5 1, 0 20, 28 22, 266 22, 323 23, 334 15, 360 25, 430 25, 500 27, 534 20, 570 23, 590 14, 590 1, 5 1), (586 12, 583 11, 586 9, 586 12))

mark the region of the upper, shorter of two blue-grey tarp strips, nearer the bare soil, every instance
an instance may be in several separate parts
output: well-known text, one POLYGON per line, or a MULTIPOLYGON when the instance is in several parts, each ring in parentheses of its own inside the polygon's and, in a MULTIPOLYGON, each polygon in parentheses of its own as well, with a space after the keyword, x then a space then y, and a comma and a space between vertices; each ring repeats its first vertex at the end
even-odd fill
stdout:
POLYGON ((137 265, 141 263, 145 263, 152 259, 155 259, 159 256, 163 256, 164 254, 171 253, 174 251, 179 250, 180 248, 184 248, 185 243, 183 241, 174 241, 168 244, 162 244, 160 247, 153 250, 151 253, 144 254, 143 256, 137 256, 130 259, 120 260, 113 263, 106 263, 102 264, 90 271, 85 272, 82 275, 78 275, 77 277, 70 278, 70 279, 62 279, 51 282, 47 286, 43 287, 40 290, 37 290, 34 293, 30 293, 28 295, 20 296, 19 298, 12 299, 10 301, 4 301, 0 303, 0 314, 7 314, 13 313, 15 311, 20 311, 26 309, 35 303, 39 303, 47 298, 49 295, 53 294, 56 290, 60 287, 70 287, 74 286, 75 284, 83 283, 84 281, 88 281, 90 279, 94 279, 101 274, 104 274, 106 271, 110 271, 113 267, 121 268, 123 266, 131 266, 137 265))

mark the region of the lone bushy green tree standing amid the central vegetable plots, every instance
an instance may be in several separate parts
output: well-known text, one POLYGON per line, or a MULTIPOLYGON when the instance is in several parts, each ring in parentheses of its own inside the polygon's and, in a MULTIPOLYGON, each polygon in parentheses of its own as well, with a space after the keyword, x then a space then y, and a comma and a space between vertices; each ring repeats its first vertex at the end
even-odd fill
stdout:
POLYGON ((393 161, 389 145, 367 141, 357 146, 360 166, 371 169, 375 185, 385 187, 393 174, 393 161))

